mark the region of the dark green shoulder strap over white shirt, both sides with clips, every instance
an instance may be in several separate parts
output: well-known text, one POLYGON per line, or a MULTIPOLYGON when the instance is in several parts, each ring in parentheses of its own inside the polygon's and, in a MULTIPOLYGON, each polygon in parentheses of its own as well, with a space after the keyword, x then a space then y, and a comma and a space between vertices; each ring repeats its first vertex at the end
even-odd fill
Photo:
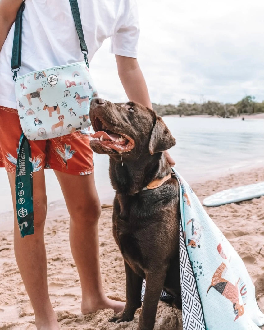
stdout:
MULTIPOLYGON (((84 40, 83 30, 82 30, 82 22, 81 22, 81 16, 79 12, 79 6, 77 0, 69 0, 72 15, 75 23, 75 27, 78 33, 78 37, 80 40, 80 46, 82 53, 84 55, 84 60, 86 62, 87 67, 89 68, 88 63, 88 50, 87 46, 84 40)), ((13 50, 12 50, 12 59, 11 59, 11 68, 13 75, 13 80, 16 80, 17 77, 17 71, 19 70, 21 66, 21 48, 22 48, 22 13, 25 8, 25 3, 23 2, 20 8, 18 9, 18 12, 16 14, 16 20, 15 20, 15 32, 14 32, 14 41, 13 41, 13 50)))

